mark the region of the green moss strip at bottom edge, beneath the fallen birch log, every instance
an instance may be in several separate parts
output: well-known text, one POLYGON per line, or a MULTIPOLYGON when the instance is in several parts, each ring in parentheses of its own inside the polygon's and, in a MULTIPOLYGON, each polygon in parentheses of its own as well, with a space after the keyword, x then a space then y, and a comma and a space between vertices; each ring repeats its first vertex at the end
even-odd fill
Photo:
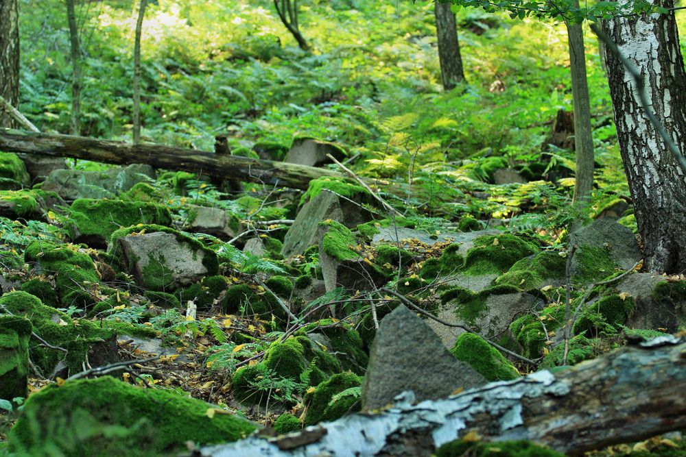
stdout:
POLYGON ((565 454, 541 447, 531 441, 480 441, 456 440, 436 449, 436 457, 565 457, 565 454))

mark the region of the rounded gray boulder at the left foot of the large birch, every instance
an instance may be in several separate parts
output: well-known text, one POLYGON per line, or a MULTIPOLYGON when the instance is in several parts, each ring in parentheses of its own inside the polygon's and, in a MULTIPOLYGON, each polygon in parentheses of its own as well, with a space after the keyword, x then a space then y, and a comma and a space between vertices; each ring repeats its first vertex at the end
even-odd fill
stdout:
MULTIPOLYGON (((578 249, 584 249, 585 246, 605 249, 619 268, 625 270, 633 267, 641 259, 634 234, 611 218, 595 220, 590 225, 576 230, 569 236, 569 245, 577 245, 578 249)), ((578 256, 574 256, 571 274, 576 275, 579 270, 578 256)), ((612 272, 609 271, 608 274, 610 273, 612 272)))

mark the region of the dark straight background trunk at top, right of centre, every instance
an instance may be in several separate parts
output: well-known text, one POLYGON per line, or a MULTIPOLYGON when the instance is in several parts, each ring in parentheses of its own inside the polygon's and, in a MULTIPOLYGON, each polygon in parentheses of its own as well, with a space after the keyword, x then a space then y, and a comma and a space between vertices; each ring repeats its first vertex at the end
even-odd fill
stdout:
POLYGON ((434 3, 436 36, 438 36, 438 60, 440 61, 440 75, 445 90, 450 90, 456 84, 464 81, 458 27, 450 5, 451 3, 440 3, 439 0, 434 3))

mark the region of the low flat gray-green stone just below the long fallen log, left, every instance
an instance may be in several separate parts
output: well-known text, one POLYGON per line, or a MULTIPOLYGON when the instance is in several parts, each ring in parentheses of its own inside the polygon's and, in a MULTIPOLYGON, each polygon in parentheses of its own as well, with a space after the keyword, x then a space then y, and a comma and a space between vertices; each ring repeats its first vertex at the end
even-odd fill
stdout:
POLYGON ((153 182, 155 171, 149 165, 115 166, 106 171, 54 170, 40 186, 56 192, 65 200, 113 198, 139 182, 153 182))

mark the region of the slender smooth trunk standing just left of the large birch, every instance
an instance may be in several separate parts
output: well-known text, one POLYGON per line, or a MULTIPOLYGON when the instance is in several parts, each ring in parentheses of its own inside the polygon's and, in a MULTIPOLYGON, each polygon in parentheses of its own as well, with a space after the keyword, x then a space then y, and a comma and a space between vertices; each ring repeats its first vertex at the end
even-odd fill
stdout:
MULTIPOLYGON (((576 0, 576 7, 579 2, 576 0)), ((586 78, 584 31, 580 23, 567 23, 571 93, 574 106, 574 150, 576 152, 576 184, 574 202, 589 201, 593 190, 593 133, 591 132, 591 101, 586 78)))

